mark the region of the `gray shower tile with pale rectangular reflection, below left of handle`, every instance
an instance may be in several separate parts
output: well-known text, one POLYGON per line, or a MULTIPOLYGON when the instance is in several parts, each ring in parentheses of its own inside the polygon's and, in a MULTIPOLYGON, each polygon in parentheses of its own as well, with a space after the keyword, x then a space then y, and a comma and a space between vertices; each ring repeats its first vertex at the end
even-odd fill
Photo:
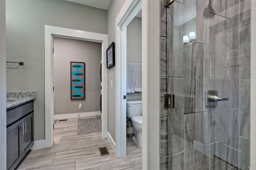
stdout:
POLYGON ((209 168, 209 113, 184 115, 184 169, 209 168))

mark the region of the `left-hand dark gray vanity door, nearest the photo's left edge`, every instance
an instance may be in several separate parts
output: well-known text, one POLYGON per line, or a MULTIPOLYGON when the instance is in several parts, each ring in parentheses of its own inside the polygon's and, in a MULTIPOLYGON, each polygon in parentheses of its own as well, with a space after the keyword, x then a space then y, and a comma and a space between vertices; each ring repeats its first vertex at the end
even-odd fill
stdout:
POLYGON ((8 170, 15 169, 22 160, 22 134, 20 134, 22 127, 20 125, 22 125, 21 121, 17 121, 6 129, 6 163, 8 170))

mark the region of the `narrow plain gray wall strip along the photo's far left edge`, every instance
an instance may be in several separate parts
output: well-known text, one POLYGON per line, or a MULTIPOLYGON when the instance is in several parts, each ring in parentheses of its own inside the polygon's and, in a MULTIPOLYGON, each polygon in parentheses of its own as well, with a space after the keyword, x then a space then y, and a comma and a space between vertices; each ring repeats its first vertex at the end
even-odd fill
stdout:
POLYGON ((6 169, 6 35, 5 0, 0 0, 0 167, 6 169))

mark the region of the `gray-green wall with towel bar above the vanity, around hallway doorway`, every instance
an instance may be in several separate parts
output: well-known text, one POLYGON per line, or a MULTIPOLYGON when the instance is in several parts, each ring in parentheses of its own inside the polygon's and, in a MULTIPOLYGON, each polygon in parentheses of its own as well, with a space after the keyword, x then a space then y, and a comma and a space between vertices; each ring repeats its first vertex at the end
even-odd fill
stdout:
POLYGON ((36 91, 34 139, 44 140, 44 25, 107 34, 107 11, 64 0, 6 1, 7 91, 36 91))

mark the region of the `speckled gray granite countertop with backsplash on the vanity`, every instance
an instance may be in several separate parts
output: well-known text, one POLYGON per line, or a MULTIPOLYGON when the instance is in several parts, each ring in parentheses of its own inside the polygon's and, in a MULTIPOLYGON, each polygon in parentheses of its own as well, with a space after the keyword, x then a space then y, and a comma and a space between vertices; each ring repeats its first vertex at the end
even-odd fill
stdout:
POLYGON ((6 92, 6 109, 36 99, 36 91, 6 92))

